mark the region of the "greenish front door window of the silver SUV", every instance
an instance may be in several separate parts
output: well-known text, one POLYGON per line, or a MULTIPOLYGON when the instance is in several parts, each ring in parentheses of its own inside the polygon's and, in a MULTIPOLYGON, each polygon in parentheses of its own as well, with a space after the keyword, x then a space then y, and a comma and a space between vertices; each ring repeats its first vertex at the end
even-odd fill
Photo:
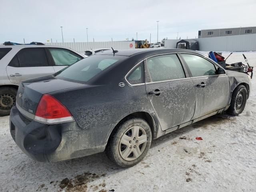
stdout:
POLYGON ((55 65, 58 66, 71 65, 82 59, 81 56, 66 49, 49 48, 49 51, 52 54, 55 65))

